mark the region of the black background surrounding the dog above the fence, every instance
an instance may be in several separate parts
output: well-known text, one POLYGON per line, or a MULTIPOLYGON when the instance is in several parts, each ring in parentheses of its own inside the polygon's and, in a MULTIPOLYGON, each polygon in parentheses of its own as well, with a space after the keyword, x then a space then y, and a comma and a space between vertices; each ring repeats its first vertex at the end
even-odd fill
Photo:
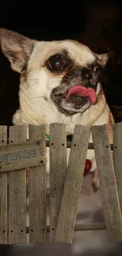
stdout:
MULTIPOLYGON (((106 69, 104 86, 109 106, 121 106, 121 5, 117 1, 15 1, 1 2, 0 27, 39 40, 76 39, 95 52, 107 51, 102 40, 111 43, 116 58, 106 69), (104 49, 105 48, 105 49, 104 49), (114 76, 113 76, 114 74, 114 76), (116 86, 116 87, 115 87, 116 86)), ((12 124, 19 106, 19 74, 10 69, 0 52, 0 125, 12 124)))

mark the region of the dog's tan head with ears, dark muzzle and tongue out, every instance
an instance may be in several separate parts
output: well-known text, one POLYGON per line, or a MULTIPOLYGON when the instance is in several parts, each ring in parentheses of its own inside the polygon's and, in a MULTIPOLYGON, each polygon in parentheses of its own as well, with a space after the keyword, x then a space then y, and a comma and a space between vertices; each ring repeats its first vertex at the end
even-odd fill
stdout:
MULTIPOLYGON (((2 52, 21 83, 40 102, 54 104, 60 113, 83 113, 98 102, 102 72, 110 54, 94 54, 72 40, 39 42, 0 29, 2 52)), ((24 91, 25 91, 24 90, 24 91)))

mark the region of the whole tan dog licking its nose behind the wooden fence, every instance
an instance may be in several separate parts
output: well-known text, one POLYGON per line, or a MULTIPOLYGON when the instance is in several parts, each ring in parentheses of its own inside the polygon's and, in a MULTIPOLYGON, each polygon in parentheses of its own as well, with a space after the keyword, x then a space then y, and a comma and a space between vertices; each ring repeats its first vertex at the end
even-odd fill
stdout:
MULTIPOLYGON (((102 91, 102 72, 110 54, 94 54, 87 46, 72 40, 44 42, 0 29, 2 52, 11 68, 20 72, 20 109, 13 124, 66 124, 73 134, 75 124, 107 124, 113 142, 113 116, 102 91)), ((92 142, 92 138, 90 140, 92 142)), ((87 159, 98 172, 94 150, 87 159)))

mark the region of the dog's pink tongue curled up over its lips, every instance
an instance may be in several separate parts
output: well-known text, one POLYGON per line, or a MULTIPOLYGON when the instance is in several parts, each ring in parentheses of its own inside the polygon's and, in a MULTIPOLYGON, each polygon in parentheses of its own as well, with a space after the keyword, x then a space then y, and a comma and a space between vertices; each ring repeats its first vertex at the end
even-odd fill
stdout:
POLYGON ((66 98, 70 98, 71 95, 79 95, 83 97, 88 97, 91 100, 91 104, 94 104, 97 100, 97 95, 94 89, 92 88, 86 88, 83 86, 74 86, 72 87, 69 91, 68 94, 66 95, 66 98))

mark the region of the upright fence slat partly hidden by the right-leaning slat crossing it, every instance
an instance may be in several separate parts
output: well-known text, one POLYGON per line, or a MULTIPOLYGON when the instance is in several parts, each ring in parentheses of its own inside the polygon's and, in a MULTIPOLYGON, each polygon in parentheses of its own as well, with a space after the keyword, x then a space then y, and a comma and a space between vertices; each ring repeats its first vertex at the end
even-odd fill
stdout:
POLYGON ((50 124, 50 242, 54 242, 66 168, 65 124, 50 124))

